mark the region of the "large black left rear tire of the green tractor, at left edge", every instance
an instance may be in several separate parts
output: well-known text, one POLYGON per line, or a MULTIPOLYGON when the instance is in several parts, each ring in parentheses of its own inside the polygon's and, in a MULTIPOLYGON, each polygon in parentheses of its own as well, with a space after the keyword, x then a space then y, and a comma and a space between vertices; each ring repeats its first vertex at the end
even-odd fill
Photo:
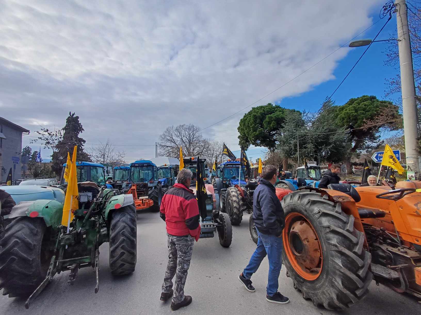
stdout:
POLYGON ((0 288, 9 297, 27 297, 45 279, 53 252, 42 218, 13 218, 0 240, 0 288))

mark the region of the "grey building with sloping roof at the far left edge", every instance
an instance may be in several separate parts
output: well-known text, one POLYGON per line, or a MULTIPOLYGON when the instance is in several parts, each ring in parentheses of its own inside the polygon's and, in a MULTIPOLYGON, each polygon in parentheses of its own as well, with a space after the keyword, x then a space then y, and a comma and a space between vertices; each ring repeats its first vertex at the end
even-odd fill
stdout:
POLYGON ((21 178, 22 134, 29 130, 0 117, 0 182, 12 168, 13 180, 21 178))

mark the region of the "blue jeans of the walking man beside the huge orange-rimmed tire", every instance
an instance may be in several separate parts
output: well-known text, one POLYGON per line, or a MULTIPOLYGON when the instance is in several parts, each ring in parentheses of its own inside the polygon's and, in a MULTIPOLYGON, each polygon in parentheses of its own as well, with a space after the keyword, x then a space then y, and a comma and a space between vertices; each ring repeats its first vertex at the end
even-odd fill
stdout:
POLYGON ((257 231, 257 248, 251 255, 250 262, 242 272, 246 279, 250 279, 253 273, 257 271, 263 258, 269 260, 269 275, 267 279, 266 293, 273 296, 278 291, 278 278, 282 267, 282 237, 274 235, 261 234, 257 231))

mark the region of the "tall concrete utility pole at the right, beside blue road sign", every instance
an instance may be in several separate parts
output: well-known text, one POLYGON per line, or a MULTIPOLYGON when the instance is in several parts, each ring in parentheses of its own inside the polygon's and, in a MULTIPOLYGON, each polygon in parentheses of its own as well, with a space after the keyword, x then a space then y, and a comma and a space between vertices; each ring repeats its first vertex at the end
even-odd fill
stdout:
POLYGON ((397 36, 399 46, 400 79, 402 85, 403 125, 405 134, 406 165, 420 171, 418 165, 418 115, 415 100, 414 71, 405 0, 396 0, 397 36))

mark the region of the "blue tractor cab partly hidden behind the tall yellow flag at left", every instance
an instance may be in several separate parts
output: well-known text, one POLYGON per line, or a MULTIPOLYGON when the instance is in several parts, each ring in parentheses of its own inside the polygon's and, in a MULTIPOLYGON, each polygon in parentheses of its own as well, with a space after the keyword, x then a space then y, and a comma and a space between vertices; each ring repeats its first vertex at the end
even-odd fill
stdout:
MULTIPOLYGON (((67 163, 63 164, 63 170, 61 171, 60 185, 67 185, 67 182, 64 181, 64 169, 66 168, 67 163)), ((105 170, 104 165, 99 163, 92 162, 76 162, 76 173, 77 173, 77 182, 82 183, 84 181, 93 181, 99 186, 107 185, 107 188, 112 188, 111 185, 106 184, 105 179, 105 170)))

